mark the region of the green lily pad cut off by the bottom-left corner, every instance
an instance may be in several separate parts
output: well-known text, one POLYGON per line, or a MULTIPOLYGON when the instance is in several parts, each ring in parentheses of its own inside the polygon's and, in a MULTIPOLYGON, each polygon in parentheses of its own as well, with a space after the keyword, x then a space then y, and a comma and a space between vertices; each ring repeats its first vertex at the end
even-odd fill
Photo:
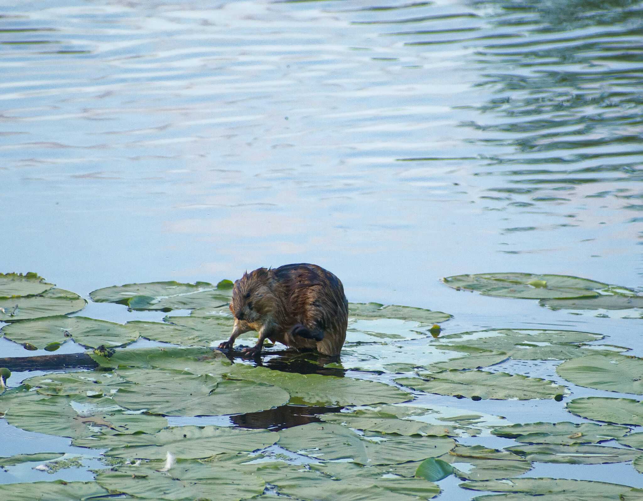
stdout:
POLYGON ((107 496, 109 493, 96 482, 31 482, 1 484, 0 499, 11 501, 86 501, 107 496))

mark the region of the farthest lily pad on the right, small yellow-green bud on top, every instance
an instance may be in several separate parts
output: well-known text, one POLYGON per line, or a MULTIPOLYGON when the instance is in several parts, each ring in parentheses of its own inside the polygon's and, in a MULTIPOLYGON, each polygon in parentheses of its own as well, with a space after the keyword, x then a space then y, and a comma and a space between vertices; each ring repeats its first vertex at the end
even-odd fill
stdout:
POLYGON ((597 290, 609 287, 608 284, 586 278, 531 273, 480 273, 446 277, 443 280, 453 289, 522 299, 593 297, 599 295, 597 290))

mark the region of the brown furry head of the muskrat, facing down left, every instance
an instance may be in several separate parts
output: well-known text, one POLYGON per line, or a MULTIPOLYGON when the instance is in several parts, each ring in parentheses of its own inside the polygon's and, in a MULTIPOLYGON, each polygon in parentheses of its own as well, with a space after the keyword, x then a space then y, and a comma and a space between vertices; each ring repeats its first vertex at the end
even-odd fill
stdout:
POLYGON ((237 318, 247 323, 253 323, 271 311, 272 301, 269 296, 268 270, 255 269, 244 273, 243 277, 235 282, 232 289, 230 311, 237 318))

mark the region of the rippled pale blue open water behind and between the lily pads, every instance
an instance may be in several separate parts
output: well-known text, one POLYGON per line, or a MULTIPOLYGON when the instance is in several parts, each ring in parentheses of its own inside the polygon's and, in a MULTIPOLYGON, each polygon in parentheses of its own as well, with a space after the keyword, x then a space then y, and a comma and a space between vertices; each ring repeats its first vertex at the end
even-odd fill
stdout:
POLYGON ((448 332, 562 325, 643 354, 640 320, 437 281, 643 285, 642 3, 5 1, 0 28, 0 271, 86 295, 316 262, 448 332))

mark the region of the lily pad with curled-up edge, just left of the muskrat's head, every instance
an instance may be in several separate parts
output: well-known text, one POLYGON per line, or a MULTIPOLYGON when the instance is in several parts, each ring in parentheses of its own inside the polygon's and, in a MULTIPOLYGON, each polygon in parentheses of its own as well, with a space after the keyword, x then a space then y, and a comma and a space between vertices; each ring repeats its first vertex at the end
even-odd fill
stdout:
POLYGON ((208 282, 179 284, 152 282, 105 287, 89 293, 97 303, 118 303, 135 310, 172 311, 219 306, 230 300, 230 289, 217 289, 208 282))

